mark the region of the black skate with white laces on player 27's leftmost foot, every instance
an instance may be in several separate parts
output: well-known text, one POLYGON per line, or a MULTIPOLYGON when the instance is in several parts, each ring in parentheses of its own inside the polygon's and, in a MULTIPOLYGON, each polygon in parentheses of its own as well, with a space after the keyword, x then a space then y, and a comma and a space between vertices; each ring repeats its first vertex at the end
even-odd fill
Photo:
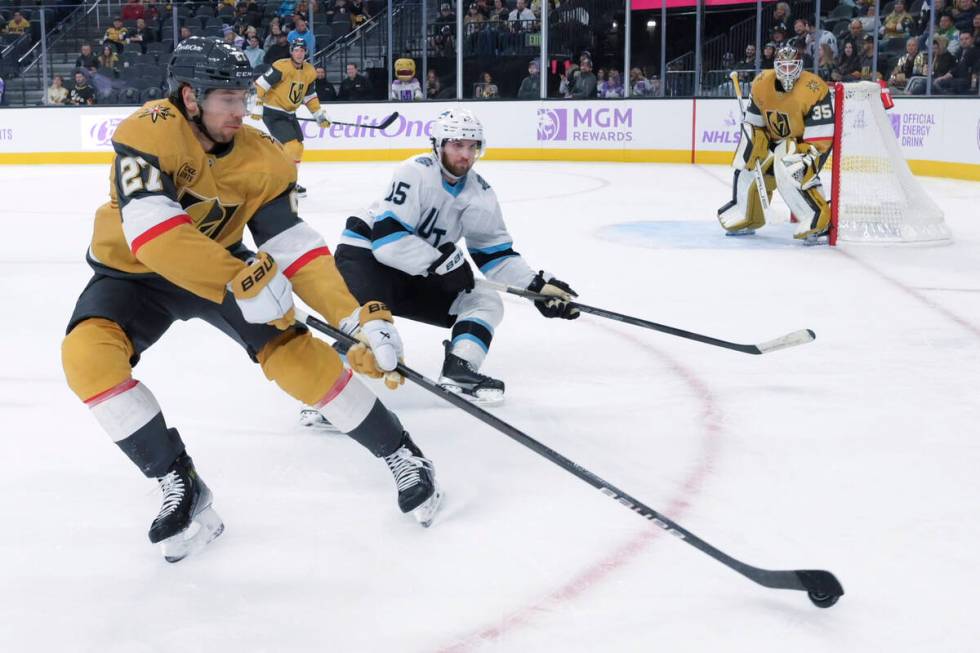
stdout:
POLYGON ((221 535, 225 525, 211 507, 211 490, 182 453, 157 479, 163 491, 160 513, 150 525, 150 542, 159 544, 167 562, 179 562, 221 535))

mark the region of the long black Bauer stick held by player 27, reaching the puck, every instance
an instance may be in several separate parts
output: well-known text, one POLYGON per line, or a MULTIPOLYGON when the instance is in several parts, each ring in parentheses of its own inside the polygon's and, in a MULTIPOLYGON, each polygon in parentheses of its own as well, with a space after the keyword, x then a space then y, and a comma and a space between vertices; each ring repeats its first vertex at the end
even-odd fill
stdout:
MULTIPOLYGON (((302 311, 296 311, 296 318, 311 329, 315 329, 316 331, 324 333, 335 339, 344 347, 345 350, 347 347, 350 347, 357 342, 354 338, 348 336, 339 329, 335 329, 326 322, 311 315, 306 315, 302 311)), ((463 412, 468 413, 480 420, 487 426, 500 431, 515 442, 524 445, 539 456, 542 456, 543 458, 546 458, 552 463, 558 465, 566 472, 569 472, 573 476, 578 477, 580 480, 585 481, 617 503, 626 506, 644 519, 653 522, 655 525, 664 529, 671 535, 684 540, 702 553, 706 553, 729 569, 742 574, 749 580, 772 589, 804 591, 810 597, 813 604, 820 608, 829 608, 837 603, 837 599, 844 594, 844 588, 841 587, 840 582, 829 571, 823 571, 820 569, 773 571, 753 567, 745 564, 744 562, 736 560, 728 554, 723 553, 722 551, 711 546, 701 538, 686 530, 681 525, 661 515, 653 508, 650 508, 640 501, 637 501, 611 483, 604 481, 584 467, 572 462, 568 458, 565 458, 554 449, 551 449, 538 442, 523 431, 511 426, 507 422, 492 415, 483 408, 470 403, 466 399, 460 397, 458 394, 446 390, 435 381, 432 381, 410 367, 407 367, 404 363, 400 363, 396 369, 398 373, 404 376, 406 379, 419 385, 423 389, 428 390, 439 398, 448 401, 463 412)))

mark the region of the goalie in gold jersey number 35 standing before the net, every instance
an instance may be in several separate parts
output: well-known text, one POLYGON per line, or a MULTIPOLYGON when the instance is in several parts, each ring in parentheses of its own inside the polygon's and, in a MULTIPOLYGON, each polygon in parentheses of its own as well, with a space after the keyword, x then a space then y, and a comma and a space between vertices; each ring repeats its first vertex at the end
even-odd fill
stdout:
POLYGON ((718 209, 729 235, 749 235, 766 223, 754 169, 761 166, 767 197, 775 189, 800 219, 796 238, 822 242, 830 228, 830 207, 818 176, 830 155, 834 109, 822 79, 803 70, 796 49, 776 53, 774 68, 752 82, 743 137, 732 167, 732 199, 718 209), (745 132, 751 134, 745 137, 745 132))

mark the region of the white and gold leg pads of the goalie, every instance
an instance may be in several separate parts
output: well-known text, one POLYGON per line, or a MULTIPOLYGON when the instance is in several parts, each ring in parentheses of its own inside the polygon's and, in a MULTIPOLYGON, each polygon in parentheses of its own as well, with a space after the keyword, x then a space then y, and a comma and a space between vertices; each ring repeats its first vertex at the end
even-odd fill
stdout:
MULTIPOLYGON (((830 227, 830 205, 823 194, 817 160, 809 169, 790 171, 784 162, 786 156, 795 153, 792 139, 782 141, 762 163, 766 196, 771 200, 774 190, 800 220, 797 238, 823 234, 830 227)), ((718 209, 718 221, 727 231, 758 229, 766 224, 765 213, 756 190, 755 174, 751 170, 735 170, 732 180, 732 199, 718 209)))

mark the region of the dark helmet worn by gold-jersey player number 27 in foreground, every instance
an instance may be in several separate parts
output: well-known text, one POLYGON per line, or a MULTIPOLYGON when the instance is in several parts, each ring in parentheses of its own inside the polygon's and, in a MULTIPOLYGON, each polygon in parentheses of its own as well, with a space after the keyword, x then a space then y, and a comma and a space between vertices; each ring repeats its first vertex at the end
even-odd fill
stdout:
POLYGON ((252 64, 244 52, 217 37, 192 36, 174 48, 167 83, 171 95, 188 84, 199 98, 216 88, 247 90, 252 86, 252 64))

